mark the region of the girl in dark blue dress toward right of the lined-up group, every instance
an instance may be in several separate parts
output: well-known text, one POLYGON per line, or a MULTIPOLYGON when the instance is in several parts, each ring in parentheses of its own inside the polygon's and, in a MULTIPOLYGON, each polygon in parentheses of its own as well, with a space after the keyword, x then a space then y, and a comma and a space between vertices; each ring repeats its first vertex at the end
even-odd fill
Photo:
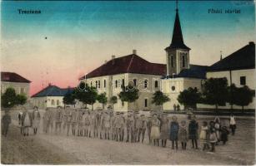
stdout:
POLYGON ((170 140, 172 141, 172 149, 174 149, 174 142, 176 149, 178 149, 178 122, 177 117, 174 115, 170 126, 170 140))

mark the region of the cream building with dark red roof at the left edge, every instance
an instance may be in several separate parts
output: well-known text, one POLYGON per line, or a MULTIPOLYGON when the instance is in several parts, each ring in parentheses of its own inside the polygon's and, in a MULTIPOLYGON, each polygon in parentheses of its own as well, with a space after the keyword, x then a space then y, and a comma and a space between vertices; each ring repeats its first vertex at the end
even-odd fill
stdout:
POLYGON ((12 87, 16 94, 24 94, 29 98, 30 83, 31 81, 28 81, 28 79, 15 72, 1 72, 1 94, 3 94, 8 87, 12 87))

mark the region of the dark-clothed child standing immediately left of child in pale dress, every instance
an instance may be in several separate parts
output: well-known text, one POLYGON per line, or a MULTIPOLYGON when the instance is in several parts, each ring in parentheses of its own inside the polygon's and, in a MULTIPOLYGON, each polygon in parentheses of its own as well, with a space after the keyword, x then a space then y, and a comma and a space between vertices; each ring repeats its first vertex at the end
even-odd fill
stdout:
POLYGON ((192 141, 192 148, 198 149, 198 122, 194 115, 192 115, 188 124, 188 139, 192 141))

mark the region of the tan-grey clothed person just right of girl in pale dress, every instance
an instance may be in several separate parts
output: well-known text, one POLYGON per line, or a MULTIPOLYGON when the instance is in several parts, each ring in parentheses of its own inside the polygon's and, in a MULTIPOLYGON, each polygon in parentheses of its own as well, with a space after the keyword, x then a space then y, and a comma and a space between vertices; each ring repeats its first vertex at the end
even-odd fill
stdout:
POLYGON ((166 147, 166 142, 169 137, 169 120, 166 113, 163 114, 160 127, 160 139, 162 140, 162 147, 166 147))

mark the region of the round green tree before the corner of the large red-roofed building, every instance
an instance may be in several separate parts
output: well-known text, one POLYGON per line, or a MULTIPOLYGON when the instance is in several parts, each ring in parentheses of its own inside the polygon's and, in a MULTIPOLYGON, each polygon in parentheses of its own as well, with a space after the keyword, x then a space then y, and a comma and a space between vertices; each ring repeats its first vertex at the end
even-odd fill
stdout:
POLYGON ((138 100, 138 89, 133 85, 123 86, 122 91, 118 94, 119 99, 123 102, 133 103, 138 100))

